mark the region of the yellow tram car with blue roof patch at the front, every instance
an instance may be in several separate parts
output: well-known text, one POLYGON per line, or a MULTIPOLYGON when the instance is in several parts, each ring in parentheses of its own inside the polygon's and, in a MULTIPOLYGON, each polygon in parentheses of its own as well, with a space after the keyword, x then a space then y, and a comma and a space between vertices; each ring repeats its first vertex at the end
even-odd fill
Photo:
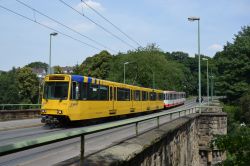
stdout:
POLYGON ((51 74, 44 79, 42 122, 64 123, 163 109, 163 91, 92 77, 51 74))

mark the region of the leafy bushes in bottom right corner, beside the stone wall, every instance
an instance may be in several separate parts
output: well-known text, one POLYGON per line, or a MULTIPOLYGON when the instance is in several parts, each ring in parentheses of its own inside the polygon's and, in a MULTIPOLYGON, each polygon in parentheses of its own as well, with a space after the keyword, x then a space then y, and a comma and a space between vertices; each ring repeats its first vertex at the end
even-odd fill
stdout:
POLYGON ((250 123, 247 121, 250 112, 249 95, 244 95, 240 101, 240 106, 224 106, 224 111, 227 113, 228 134, 216 136, 212 142, 218 149, 227 152, 227 159, 219 165, 250 165, 250 123))

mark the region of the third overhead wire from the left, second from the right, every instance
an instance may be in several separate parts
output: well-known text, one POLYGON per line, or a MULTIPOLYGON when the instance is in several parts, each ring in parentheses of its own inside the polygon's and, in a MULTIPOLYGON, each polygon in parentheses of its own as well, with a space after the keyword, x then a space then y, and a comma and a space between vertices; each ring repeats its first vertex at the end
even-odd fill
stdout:
POLYGON ((77 12, 78 14, 80 14, 81 16, 85 17, 87 20, 89 20, 90 22, 92 22, 93 24, 95 24, 96 26, 98 26, 99 28, 101 28, 102 30, 104 30, 106 33, 110 34, 111 36, 113 36, 114 38, 120 40, 122 43, 124 43, 125 45, 136 49, 134 46, 132 46, 131 44, 129 44, 128 42, 126 42, 125 40, 121 39, 119 36, 115 35, 114 33, 110 32, 109 30, 107 30, 105 27, 103 27, 102 25, 100 25, 99 23, 93 21, 91 18, 89 18, 88 16, 84 15, 83 13, 79 12, 78 10, 76 10, 75 8, 73 8, 72 6, 70 6, 68 3, 66 3, 63 0, 59 0, 62 4, 64 4, 65 6, 71 8, 72 10, 74 10, 75 12, 77 12))

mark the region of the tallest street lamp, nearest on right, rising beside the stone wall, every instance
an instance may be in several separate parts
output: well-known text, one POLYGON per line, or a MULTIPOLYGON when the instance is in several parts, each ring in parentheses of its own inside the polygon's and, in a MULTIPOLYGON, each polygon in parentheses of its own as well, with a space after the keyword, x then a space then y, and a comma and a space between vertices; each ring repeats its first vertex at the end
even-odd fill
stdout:
POLYGON ((198 57, 199 57, 199 106, 201 105, 201 58, 200 58, 200 18, 189 17, 188 21, 198 21, 198 57))

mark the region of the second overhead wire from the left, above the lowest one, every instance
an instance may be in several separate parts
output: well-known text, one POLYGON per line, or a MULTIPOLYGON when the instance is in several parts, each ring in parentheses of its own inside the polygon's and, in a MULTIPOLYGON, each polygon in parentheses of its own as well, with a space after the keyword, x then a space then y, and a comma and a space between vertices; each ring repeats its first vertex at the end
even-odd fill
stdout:
MULTIPOLYGON (((92 42, 98 44, 99 46, 102 46, 102 47, 104 47, 104 48, 107 49, 107 50, 111 50, 112 52, 116 52, 116 51, 114 51, 113 49, 111 49, 111 48, 109 48, 109 47, 103 45, 102 43, 100 43, 100 42, 98 42, 98 41, 96 41, 96 40, 94 40, 94 39, 92 39, 92 38, 90 38, 90 37, 88 37, 88 36, 86 36, 86 35, 84 35, 84 34, 78 32, 78 31, 76 31, 75 29, 70 28, 69 26, 67 26, 67 25, 65 25, 65 24, 63 24, 63 23, 61 23, 61 22, 59 22, 58 20, 56 20, 56 19, 54 19, 54 18, 51 18, 50 16, 48 16, 48 15, 46 15, 46 14, 44 14, 44 13, 38 11, 37 9, 35 9, 35 8, 31 7, 31 6, 29 6, 28 4, 26 4, 26 3, 22 2, 22 1, 19 1, 19 0, 16 0, 16 1, 17 1, 18 3, 20 3, 21 5, 23 5, 23 6, 27 7, 27 8, 29 8, 29 9, 33 10, 34 12, 37 12, 38 14, 40 14, 40 15, 42 15, 42 16, 44 16, 44 17, 46 17, 46 18, 48 18, 48 19, 50 19, 50 20, 52 20, 52 21, 54 21, 54 22, 56 22, 56 23, 58 23, 59 25, 65 27, 65 28, 67 28, 67 29, 69 29, 69 30, 71 30, 71 31, 73 31, 74 33, 76 33, 76 34, 78 34, 78 35, 81 35, 82 37, 87 38, 88 40, 90 40, 90 41, 92 41, 92 42)), ((35 19, 35 20, 36 20, 36 19, 35 19)))

